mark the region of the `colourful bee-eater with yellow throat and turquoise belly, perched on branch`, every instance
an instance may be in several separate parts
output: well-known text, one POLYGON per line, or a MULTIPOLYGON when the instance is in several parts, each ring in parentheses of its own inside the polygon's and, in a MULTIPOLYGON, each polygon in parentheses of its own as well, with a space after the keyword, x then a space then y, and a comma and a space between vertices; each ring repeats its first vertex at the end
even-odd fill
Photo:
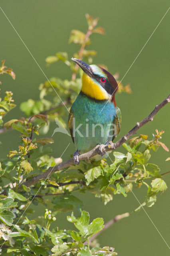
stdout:
POLYGON ((118 84, 113 75, 100 66, 88 65, 77 58, 71 60, 83 70, 82 88, 68 117, 69 131, 76 148, 73 162, 79 164, 79 154, 97 145, 97 156, 101 155, 102 159, 106 155, 103 146, 113 141, 121 130, 121 110, 115 101, 118 84))

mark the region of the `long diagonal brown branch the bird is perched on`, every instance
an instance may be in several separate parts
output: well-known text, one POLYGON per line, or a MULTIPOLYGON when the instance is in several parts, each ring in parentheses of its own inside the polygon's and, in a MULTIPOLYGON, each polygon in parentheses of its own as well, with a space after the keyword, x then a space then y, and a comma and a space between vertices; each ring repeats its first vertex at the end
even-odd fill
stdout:
MULTIPOLYGON (((145 124, 147 124, 149 121, 152 121, 154 116, 158 113, 158 111, 163 108, 168 102, 170 102, 170 95, 164 100, 162 101, 159 105, 157 105, 154 110, 146 117, 144 118, 144 120, 142 120, 141 122, 137 122, 136 125, 125 135, 123 136, 120 140, 118 140, 117 142, 113 143, 110 142, 108 146, 104 146, 103 147, 103 152, 107 152, 107 151, 111 151, 111 150, 115 150, 116 148, 119 148, 124 142, 126 142, 131 136, 133 136, 134 134, 136 134, 137 130, 139 130, 142 126, 144 126, 145 124)), ((96 156, 98 154, 98 147, 99 145, 95 146, 95 148, 93 148, 91 151, 85 153, 85 154, 81 154, 79 156, 79 161, 85 160, 85 159, 89 159, 93 156, 96 156)), ((25 186, 30 187, 31 185, 39 182, 40 180, 45 180, 49 175, 53 174, 54 172, 63 170, 71 165, 73 165, 73 158, 58 164, 54 167, 49 167, 48 170, 46 172, 43 172, 42 174, 28 180, 27 182, 24 182, 22 184, 24 184, 25 186)))

